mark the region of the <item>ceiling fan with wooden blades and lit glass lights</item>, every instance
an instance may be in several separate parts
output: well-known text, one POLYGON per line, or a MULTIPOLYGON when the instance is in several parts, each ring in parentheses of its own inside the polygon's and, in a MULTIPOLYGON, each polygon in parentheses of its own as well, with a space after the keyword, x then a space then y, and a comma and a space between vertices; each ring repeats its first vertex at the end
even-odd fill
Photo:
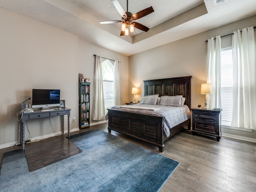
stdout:
POLYGON ((134 22, 134 20, 137 20, 139 18, 142 18, 152 12, 154 12, 154 9, 152 6, 141 10, 135 14, 132 14, 131 12, 128 12, 128 0, 127 0, 127 12, 124 11, 122 8, 121 4, 118 2, 118 0, 112 0, 114 6, 116 7, 117 11, 119 14, 122 16, 122 20, 114 20, 114 21, 100 21, 100 24, 112 24, 112 23, 122 23, 121 27, 121 34, 120 36, 123 35, 129 35, 129 28, 130 32, 134 32, 134 27, 138 28, 142 31, 147 32, 149 30, 148 27, 138 23, 134 22))

